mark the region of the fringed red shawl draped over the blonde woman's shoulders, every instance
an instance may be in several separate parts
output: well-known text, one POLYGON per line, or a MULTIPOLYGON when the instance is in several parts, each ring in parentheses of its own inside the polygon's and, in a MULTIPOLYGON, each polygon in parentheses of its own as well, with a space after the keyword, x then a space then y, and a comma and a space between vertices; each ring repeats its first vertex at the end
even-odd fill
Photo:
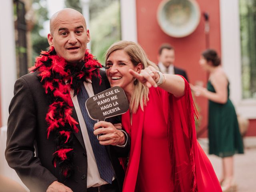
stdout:
MULTIPOLYGON (((174 192, 221 192, 222 190, 212 165, 196 140, 194 122, 196 110, 190 86, 185 79, 184 81, 185 94, 180 98, 176 98, 172 94, 157 88, 160 92, 166 94, 163 98, 168 105, 168 113, 166 115, 163 112, 163 115, 166 115, 166 121, 168 121, 168 142, 170 145, 174 192)), ((150 94, 154 94, 152 89, 154 88, 150 88, 150 94)), ((136 186, 140 152, 142 150, 142 130, 144 120, 147 117, 144 116, 144 112, 139 108, 136 115, 133 115, 133 124, 138 125, 138 129, 134 129, 131 132, 127 115, 127 113, 123 114, 122 125, 131 135, 131 150, 123 192, 132 192, 136 186)))

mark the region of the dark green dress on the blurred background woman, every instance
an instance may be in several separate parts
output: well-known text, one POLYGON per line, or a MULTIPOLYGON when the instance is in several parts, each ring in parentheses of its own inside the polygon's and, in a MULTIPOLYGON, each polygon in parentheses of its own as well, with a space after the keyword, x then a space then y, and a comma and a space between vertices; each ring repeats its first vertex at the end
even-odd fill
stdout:
MULTIPOLYGON (((210 81, 207 89, 216 92, 210 81)), ((228 100, 225 104, 209 100, 208 129, 209 154, 228 157, 235 153, 244 153, 236 111, 229 99, 229 84, 228 100)))

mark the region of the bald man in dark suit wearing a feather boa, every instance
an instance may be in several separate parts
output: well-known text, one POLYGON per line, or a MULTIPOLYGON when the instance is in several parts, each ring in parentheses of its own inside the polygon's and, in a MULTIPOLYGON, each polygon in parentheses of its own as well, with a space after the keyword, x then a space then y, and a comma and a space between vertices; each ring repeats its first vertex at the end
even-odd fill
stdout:
POLYGON ((82 14, 64 9, 50 19, 49 50, 14 85, 6 160, 34 192, 121 192, 129 136, 116 118, 94 133, 85 101, 109 82, 86 51, 82 14), (113 126, 114 124, 114 126, 113 126))

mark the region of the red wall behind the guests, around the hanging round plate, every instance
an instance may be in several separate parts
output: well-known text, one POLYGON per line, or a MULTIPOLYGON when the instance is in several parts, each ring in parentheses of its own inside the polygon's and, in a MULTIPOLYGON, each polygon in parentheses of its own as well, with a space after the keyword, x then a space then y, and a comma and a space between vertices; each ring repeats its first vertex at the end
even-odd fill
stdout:
MULTIPOLYGON (((156 14, 162 0, 137 0, 137 29, 138 42, 144 48, 148 57, 157 63, 158 48, 162 43, 170 43, 175 48, 175 65, 184 68, 188 74, 190 83, 194 84, 196 80, 207 83, 207 74, 198 64, 200 53, 206 48, 206 38, 204 34, 204 17, 201 16, 200 23, 196 30, 184 38, 172 38, 165 34, 158 25, 156 14)), ((214 48, 220 54, 220 11, 219 1, 197 0, 201 12, 208 12, 210 15, 210 48, 214 48)), ((200 107, 201 123, 199 130, 207 125, 208 119, 208 101, 205 98, 195 98, 200 107)), ((256 120, 251 121, 249 135, 256 136, 256 120)), ((202 136, 207 136, 206 132, 202 136)))

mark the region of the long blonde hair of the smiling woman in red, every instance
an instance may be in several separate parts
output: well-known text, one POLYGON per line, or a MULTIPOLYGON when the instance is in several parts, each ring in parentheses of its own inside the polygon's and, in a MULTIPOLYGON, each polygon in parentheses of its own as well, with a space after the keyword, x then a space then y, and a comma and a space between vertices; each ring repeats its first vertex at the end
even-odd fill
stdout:
MULTIPOLYGON (((139 44, 132 41, 118 41, 112 44, 110 48, 108 48, 108 50, 106 51, 105 63, 108 60, 110 54, 116 50, 124 50, 124 52, 126 52, 126 54, 128 54, 128 56, 130 57, 130 60, 132 61, 132 64, 135 67, 139 63, 141 63, 143 69, 148 66, 153 66, 158 70, 156 64, 154 64, 152 61, 148 59, 142 47, 139 44)), ((130 111, 132 113, 136 113, 139 104, 141 109, 144 109, 144 106, 146 106, 148 102, 148 93, 148 87, 144 86, 140 81, 138 81, 138 83, 134 85, 134 91, 130 101, 130 111)))

